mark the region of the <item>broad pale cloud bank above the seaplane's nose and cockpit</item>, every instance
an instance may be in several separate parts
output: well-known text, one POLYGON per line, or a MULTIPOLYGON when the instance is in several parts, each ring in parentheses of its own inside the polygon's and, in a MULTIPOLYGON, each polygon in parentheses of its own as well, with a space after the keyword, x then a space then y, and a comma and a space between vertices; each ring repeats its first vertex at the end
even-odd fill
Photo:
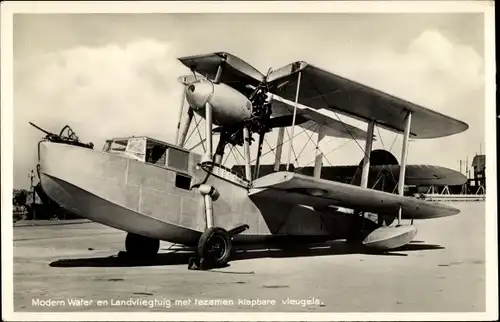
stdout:
POLYGON ((27 177, 34 166, 42 135, 28 121, 52 132, 69 124, 97 148, 122 135, 172 140, 182 88, 176 79, 185 73, 174 58, 172 45, 143 40, 76 47, 16 63, 16 177, 27 177))

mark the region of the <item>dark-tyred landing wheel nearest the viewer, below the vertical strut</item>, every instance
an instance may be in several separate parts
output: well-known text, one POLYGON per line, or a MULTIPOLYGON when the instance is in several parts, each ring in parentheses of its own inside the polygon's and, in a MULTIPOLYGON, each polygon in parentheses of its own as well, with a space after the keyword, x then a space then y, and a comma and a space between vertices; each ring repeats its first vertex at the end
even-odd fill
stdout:
POLYGON ((208 228, 198 241, 198 256, 216 267, 227 264, 231 249, 231 238, 227 231, 220 227, 208 228))

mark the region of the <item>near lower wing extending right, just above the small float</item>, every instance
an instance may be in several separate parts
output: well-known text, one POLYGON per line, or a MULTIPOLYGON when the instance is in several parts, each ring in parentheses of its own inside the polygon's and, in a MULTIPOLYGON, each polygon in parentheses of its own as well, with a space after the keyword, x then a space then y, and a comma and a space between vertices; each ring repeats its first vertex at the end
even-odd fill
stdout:
POLYGON ((430 219, 460 212, 444 204, 284 171, 255 180, 249 196, 313 207, 339 206, 395 216, 401 207, 403 219, 430 219))

